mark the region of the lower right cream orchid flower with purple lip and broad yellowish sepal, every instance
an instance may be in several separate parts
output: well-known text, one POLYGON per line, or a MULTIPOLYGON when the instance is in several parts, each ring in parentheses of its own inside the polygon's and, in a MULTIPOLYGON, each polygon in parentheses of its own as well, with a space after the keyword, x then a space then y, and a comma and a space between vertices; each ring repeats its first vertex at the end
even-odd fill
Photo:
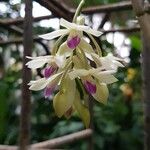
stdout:
POLYGON ((69 77, 71 80, 80 78, 86 91, 97 101, 106 104, 109 95, 107 84, 118 81, 112 75, 113 73, 115 73, 113 70, 100 71, 99 69, 75 69, 69 73, 69 77))

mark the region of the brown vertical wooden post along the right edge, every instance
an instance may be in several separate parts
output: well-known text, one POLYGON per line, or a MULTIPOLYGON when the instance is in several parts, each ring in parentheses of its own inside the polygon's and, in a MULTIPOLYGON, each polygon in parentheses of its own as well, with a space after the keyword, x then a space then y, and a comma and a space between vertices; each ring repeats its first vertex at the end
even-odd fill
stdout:
POLYGON ((141 26, 143 41, 144 149, 150 150, 150 15, 145 10, 146 5, 144 4, 144 0, 132 0, 132 5, 141 26))

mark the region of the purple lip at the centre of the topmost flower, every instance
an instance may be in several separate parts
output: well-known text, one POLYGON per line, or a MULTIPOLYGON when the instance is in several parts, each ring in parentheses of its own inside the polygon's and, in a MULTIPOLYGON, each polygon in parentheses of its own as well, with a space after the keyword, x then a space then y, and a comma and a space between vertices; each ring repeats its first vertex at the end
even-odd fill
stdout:
POLYGON ((67 45, 69 48, 75 49, 78 46, 78 44, 80 43, 80 40, 81 39, 78 36, 72 37, 67 40, 67 45))

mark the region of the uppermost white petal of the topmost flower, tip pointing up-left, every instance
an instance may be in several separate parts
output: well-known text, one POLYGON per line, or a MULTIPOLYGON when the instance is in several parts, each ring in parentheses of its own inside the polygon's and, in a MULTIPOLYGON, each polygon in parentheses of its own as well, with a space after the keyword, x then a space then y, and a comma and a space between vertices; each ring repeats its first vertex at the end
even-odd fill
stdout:
POLYGON ((75 23, 68 22, 67 20, 61 18, 60 19, 60 25, 67 28, 67 29, 76 29, 78 31, 86 31, 89 30, 88 26, 84 25, 77 25, 75 23))

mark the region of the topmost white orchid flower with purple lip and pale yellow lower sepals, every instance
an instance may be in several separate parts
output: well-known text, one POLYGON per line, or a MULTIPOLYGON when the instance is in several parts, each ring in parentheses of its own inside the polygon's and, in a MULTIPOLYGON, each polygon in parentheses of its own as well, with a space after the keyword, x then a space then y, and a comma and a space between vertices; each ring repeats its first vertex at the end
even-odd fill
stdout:
POLYGON ((59 55, 64 54, 65 52, 71 53, 72 50, 74 50, 77 46, 82 49, 85 48, 84 50, 87 50, 88 52, 93 52, 91 45, 84 40, 83 32, 94 35, 96 37, 99 37, 102 32, 93 30, 88 26, 80 25, 81 22, 84 22, 81 21, 83 20, 83 17, 78 17, 77 20, 79 21, 77 21, 77 24, 75 24, 61 18, 60 25, 66 29, 59 29, 57 31, 41 35, 40 37, 46 40, 52 40, 62 35, 68 35, 67 41, 64 42, 58 50, 59 55))

